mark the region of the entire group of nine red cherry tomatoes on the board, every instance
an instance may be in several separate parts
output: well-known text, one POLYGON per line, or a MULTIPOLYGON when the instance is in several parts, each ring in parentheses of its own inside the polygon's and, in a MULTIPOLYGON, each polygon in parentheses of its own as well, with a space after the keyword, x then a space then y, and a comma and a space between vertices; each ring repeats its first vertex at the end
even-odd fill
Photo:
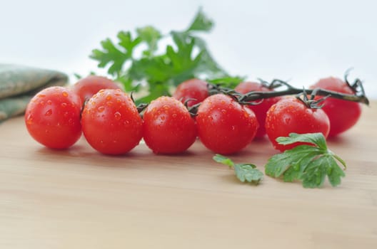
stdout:
MULTIPOLYGON (((353 93, 336 78, 322 79, 313 86, 318 87, 353 93)), ((249 82, 235 90, 240 94, 273 91, 249 82)), ((323 101, 323 109, 313 109, 294 97, 241 105, 234 96, 208 96, 207 83, 197 79, 181 83, 173 96, 152 101, 141 117, 134 101, 116 83, 92 75, 71 89, 41 90, 26 107, 25 122, 31 137, 53 149, 71 147, 83 133, 91 147, 103 154, 125 154, 142 138, 156 154, 178 154, 191 147, 196 137, 213 152, 232 154, 265 134, 281 151, 297 145, 282 146, 275 141, 291 132, 334 136, 352 127, 361 113, 358 103, 331 97, 323 101), (184 103, 200 103, 196 115, 184 103), (344 120, 345 113, 351 113, 351 118, 347 115, 344 120)))

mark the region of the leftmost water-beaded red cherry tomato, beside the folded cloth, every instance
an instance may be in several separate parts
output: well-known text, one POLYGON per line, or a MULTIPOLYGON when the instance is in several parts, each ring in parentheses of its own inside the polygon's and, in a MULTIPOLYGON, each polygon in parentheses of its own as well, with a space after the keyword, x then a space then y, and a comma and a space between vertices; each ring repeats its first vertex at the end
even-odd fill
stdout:
POLYGON ((81 100, 69 89, 41 90, 25 112, 26 128, 37 142, 52 149, 71 147, 81 136, 81 100))

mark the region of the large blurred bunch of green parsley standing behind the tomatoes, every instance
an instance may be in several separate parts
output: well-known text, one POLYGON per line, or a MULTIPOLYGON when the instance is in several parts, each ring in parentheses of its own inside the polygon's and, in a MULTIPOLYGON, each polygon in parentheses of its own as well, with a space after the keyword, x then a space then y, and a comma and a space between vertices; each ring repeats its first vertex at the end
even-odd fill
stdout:
POLYGON ((172 87, 190 78, 219 79, 226 86, 234 87, 243 78, 228 75, 199 36, 212 28, 213 21, 199 9, 183 31, 164 35, 154 26, 136 28, 135 32, 120 31, 118 41, 106 38, 90 57, 98 61, 99 68, 107 68, 111 78, 121 82, 126 91, 147 92, 137 102, 169 95, 172 87), (159 45, 166 38, 172 43, 163 53, 158 53, 159 45), (136 48, 144 48, 141 55, 134 53, 136 48))

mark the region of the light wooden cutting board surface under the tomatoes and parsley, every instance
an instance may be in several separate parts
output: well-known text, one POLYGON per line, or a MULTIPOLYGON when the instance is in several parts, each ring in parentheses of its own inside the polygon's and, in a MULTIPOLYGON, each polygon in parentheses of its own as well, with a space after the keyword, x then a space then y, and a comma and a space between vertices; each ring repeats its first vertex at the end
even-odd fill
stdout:
MULTIPOLYGON (((328 142, 348 169, 323 189, 241 184, 199 142, 179 156, 140 144, 107 157, 84 139, 50 150, 11 119, 0 124, 0 248, 377 248, 376 104, 328 142)), ((232 159, 263 170, 275 153, 264 139, 232 159)))

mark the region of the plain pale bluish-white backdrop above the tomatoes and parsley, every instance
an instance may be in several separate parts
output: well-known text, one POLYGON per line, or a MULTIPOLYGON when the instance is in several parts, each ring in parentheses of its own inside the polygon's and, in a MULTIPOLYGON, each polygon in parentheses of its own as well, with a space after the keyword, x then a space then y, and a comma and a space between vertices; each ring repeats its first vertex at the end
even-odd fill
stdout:
MULTIPOLYGON (((163 33, 187 27, 199 6, 216 23, 205 36, 229 73, 249 80, 291 79, 308 86, 330 75, 365 82, 377 98, 377 4, 358 1, 4 1, 0 63, 86 75, 99 42, 121 30, 154 25, 163 33)), ((71 77, 74 81, 74 77, 71 77)))

